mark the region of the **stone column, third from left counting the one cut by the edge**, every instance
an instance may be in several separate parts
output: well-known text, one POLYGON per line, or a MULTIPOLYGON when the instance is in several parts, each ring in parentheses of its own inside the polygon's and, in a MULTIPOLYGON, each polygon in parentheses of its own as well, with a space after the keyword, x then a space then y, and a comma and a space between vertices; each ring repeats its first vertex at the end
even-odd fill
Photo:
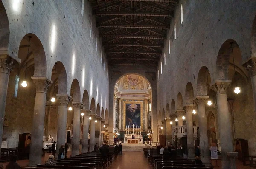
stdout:
POLYGON ((71 96, 67 94, 56 94, 58 98, 58 131, 57 131, 57 147, 56 155, 61 145, 65 144, 66 128, 67 128, 67 104, 70 102, 71 96))

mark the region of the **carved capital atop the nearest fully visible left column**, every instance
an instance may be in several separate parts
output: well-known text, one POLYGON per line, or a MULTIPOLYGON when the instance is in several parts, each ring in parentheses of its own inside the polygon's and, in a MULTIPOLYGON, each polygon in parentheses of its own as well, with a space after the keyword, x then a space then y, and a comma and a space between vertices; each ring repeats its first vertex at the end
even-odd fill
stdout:
POLYGON ((52 81, 46 77, 31 77, 35 84, 36 92, 46 93, 48 87, 52 84, 52 81))

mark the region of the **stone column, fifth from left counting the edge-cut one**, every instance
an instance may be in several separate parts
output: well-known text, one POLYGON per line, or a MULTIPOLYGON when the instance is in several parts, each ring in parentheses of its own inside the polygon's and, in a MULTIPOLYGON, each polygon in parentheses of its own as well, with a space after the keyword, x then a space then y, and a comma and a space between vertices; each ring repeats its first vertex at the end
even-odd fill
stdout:
POLYGON ((89 147, 89 117, 92 110, 82 109, 82 112, 84 112, 82 153, 87 153, 89 147))

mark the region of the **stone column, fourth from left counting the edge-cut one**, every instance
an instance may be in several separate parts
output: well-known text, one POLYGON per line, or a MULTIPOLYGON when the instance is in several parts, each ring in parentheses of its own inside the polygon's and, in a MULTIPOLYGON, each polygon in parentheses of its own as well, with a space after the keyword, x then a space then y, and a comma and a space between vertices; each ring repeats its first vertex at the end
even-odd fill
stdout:
MULTIPOLYGON (((72 152, 71 155, 79 155, 79 141, 80 141, 80 116, 81 108, 83 107, 82 102, 73 101, 74 107, 74 118, 73 118, 73 137, 72 137, 72 152)), ((58 144, 58 142, 57 142, 58 144)))

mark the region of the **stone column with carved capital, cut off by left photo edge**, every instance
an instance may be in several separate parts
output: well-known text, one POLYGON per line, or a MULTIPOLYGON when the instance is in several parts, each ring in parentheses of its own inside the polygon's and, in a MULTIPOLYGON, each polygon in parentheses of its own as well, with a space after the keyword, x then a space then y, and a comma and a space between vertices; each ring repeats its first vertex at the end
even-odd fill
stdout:
MULTIPOLYGON (((3 139, 3 121, 6 107, 6 96, 9 76, 12 71, 13 61, 8 56, 0 56, 0 145, 3 139)), ((43 124, 44 125, 44 124, 43 124)), ((43 138, 43 137, 42 137, 43 138)), ((0 147, 1 151, 1 147, 0 147)))

